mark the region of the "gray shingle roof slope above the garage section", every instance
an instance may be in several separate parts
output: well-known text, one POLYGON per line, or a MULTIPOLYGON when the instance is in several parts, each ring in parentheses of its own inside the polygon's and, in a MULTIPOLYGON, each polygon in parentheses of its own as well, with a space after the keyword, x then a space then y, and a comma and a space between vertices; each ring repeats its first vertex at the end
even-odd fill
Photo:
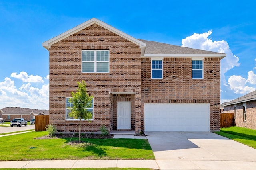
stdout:
POLYGON ((138 39, 146 43, 145 54, 216 54, 226 56, 224 53, 216 53, 212 51, 192 49, 188 47, 181 47, 178 45, 171 45, 166 43, 158 43, 154 41, 147 41, 143 39, 138 39))

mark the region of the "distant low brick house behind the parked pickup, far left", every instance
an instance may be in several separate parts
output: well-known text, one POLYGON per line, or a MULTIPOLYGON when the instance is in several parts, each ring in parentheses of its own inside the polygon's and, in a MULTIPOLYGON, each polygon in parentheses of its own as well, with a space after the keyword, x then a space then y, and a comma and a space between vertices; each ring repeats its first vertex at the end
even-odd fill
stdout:
POLYGON ((36 115, 49 115, 49 110, 38 110, 20 107, 5 107, 0 109, 0 116, 4 121, 12 121, 14 118, 24 118, 26 121, 31 121, 36 115))

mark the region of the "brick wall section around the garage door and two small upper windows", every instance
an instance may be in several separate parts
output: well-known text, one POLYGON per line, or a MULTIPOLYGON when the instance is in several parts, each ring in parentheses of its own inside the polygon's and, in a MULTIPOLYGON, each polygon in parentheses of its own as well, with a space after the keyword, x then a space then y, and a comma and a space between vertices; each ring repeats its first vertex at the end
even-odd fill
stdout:
POLYGON ((210 103, 210 131, 220 130, 220 58, 204 59, 204 79, 192 79, 191 58, 164 58, 163 79, 151 79, 151 59, 142 58, 144 103, 210 103), (217 107, 214 107, 214 104, 217 107))

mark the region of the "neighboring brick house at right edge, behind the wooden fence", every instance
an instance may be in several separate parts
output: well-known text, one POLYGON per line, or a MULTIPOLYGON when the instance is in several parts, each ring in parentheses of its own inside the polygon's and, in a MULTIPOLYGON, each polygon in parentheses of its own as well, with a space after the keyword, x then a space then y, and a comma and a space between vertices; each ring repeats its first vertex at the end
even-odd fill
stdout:
POLYGON ((237 127, 256 129, 256 91, 221 106, 224 107, 222 113, 234 113, 234 124, 237 127))

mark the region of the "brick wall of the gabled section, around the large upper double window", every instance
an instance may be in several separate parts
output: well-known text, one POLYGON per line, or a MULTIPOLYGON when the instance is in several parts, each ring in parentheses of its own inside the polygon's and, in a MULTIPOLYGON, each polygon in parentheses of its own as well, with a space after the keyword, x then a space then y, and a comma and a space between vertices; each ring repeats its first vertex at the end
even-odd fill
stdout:
MULTIPOLYGON (((138 45, 93 24, 50 47, 50 124, 59 132, 78 131, 78 121, 65 120, 65 99, 76 92, 77 81, 84 80, 88 93, 94 96, 94 120, 82 121, 83 132, 96 132, 105 125, 113 129, 113 107, 116 100, 110 92, 136 93, 136 119, 141 119, 141 57, 138 45), (81 50, 108 49, 109 73, 81 73, 81 50), (138 95, 137 95, 138 94, 138 95)), ((136 131, 141 130, 140 122, 136 131)))

